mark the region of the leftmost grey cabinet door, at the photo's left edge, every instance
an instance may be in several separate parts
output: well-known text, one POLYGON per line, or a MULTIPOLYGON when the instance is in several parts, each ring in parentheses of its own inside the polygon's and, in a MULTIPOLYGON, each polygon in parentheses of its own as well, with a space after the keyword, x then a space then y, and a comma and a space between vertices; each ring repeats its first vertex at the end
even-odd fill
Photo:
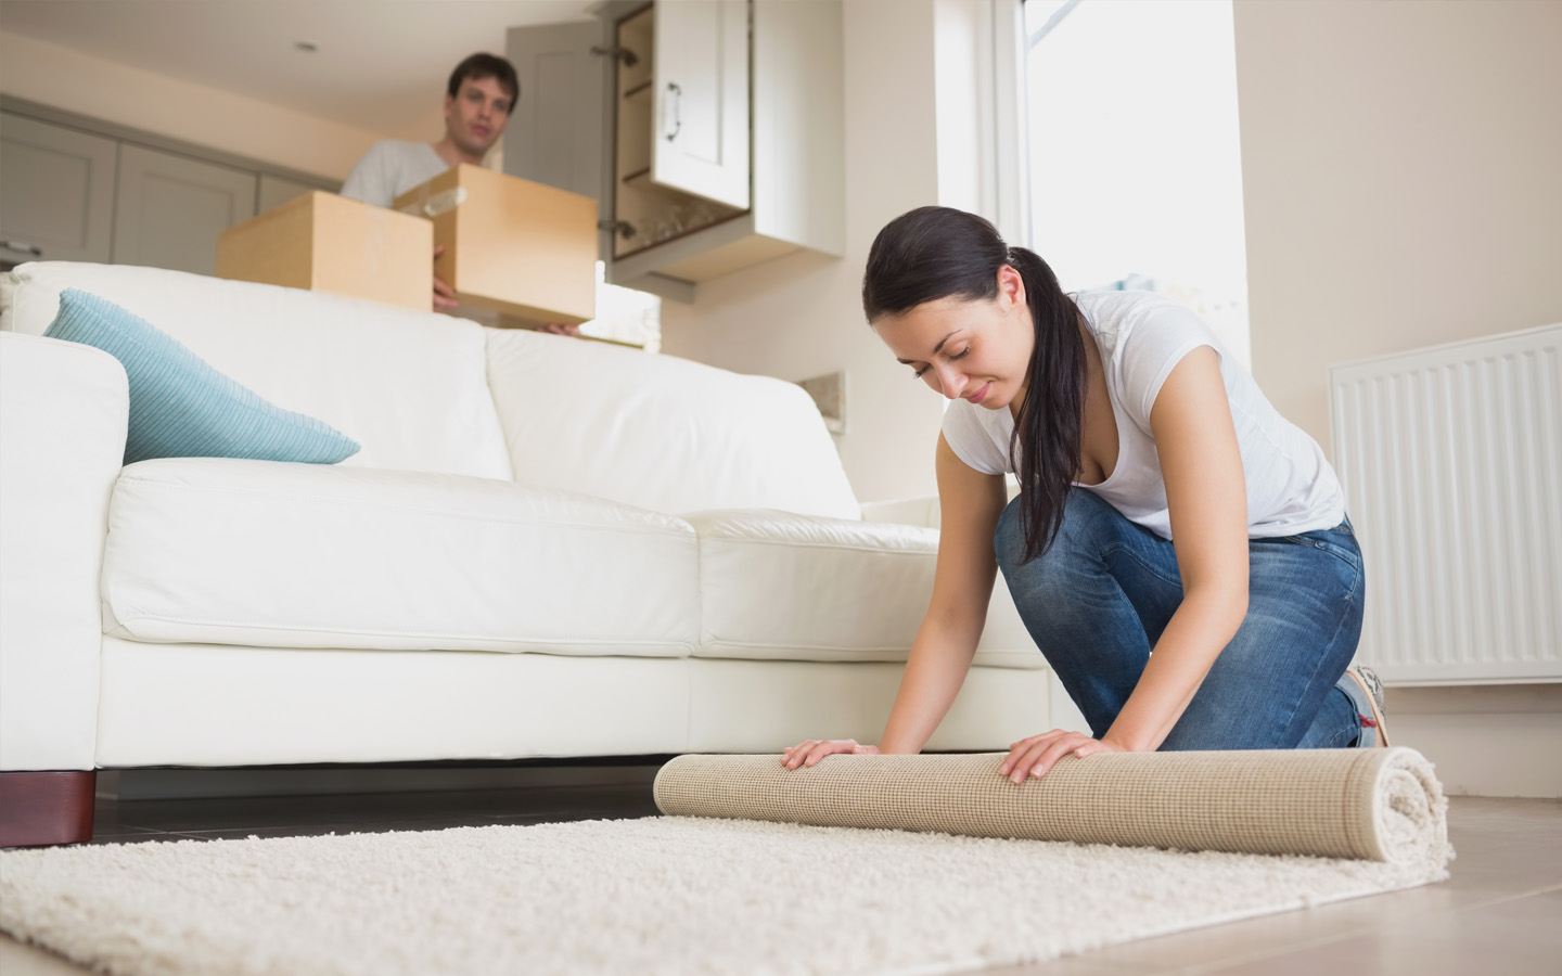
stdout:
POLYGON ((12 261, 109 259, 119 144, 0 116, 0 240, 12 261))

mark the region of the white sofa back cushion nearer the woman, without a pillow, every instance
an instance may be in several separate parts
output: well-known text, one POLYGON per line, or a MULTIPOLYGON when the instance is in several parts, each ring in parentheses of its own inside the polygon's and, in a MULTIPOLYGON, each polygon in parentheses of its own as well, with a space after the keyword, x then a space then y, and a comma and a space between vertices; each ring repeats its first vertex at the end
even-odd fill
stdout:
POLYGON ((861 518, 797 384, 603 342, 489 329, 515 481, 679 515, 767 508, 861 518))

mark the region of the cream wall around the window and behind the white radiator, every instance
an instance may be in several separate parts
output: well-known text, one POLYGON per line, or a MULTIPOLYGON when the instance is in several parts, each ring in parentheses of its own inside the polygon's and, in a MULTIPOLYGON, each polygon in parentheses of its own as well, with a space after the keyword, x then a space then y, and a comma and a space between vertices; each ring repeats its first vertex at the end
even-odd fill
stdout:
MULTIPOLYGON (((662 312, 676 354, 789 379, 845 369, 862 500, 934 489, 939 401, 862 325, 859 287, 889 219, 986 208, 956 116, 989 97, 958 67, 973 64, 958 19, 979 5, 848 0, 847 256, 759 265, 662 312)), ((1562 320, 1557 37, 1562 3, 1237 0, 1254 372, 1325 447, 1329 364, 1562 320)), ((1392 689, 1395 717, 1451 792, 1562 795, 1559 686, 1392 689)))

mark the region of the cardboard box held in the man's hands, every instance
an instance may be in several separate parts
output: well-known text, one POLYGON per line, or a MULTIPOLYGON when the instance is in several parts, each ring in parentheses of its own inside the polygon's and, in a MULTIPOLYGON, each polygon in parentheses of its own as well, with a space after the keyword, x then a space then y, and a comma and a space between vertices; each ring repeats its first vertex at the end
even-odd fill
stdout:
POLYGON ((434 273, 498 325, 597 317, 597 201, 480 166, 458 166, 395 198, 434 223, 434 273))

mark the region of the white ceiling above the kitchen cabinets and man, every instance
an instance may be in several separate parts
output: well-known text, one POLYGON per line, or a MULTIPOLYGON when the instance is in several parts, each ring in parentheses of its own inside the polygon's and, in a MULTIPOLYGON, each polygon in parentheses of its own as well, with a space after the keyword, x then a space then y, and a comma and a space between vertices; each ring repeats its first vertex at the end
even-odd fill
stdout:
POLYGON ((437 111, 450 70, 505 30, 592 0, 3 0, 0 30, 375 133, 437 111), (312 41, 314 53, 294 47, 312 41))

